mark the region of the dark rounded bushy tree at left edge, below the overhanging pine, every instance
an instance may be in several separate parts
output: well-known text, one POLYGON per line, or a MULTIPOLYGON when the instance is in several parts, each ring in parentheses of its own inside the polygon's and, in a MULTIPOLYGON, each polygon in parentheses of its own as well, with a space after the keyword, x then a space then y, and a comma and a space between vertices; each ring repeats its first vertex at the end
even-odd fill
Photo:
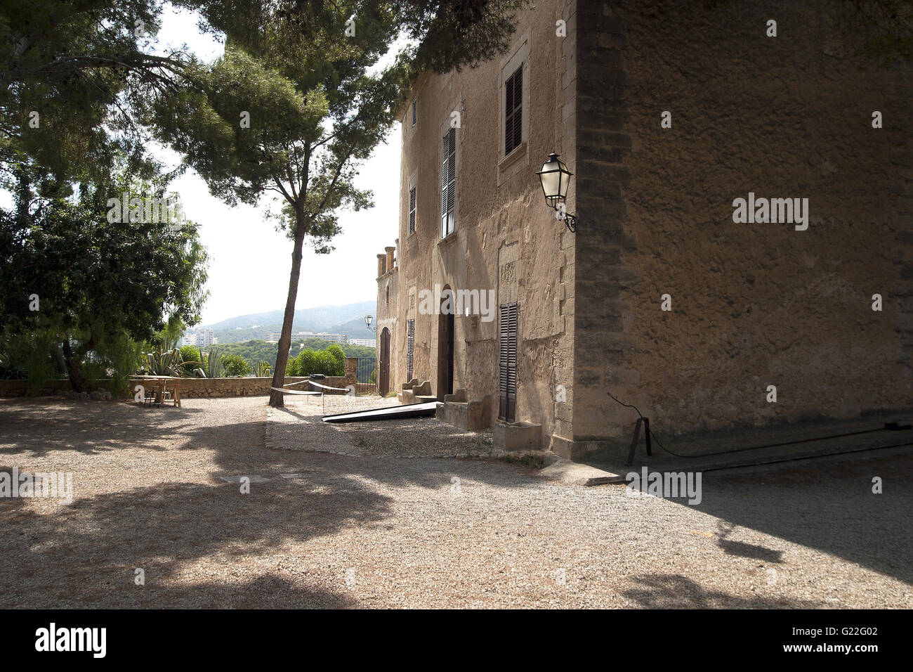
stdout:
POLYGON ((74 389, 107 368, 121 379, 133 373, 135 344, 173 340, 184 323, 198 321, 206 295, 206 254, 196 230, 109 222, 111 189, 144 194, 142 185, 118 175, 104 185, 80 185, 75 199, 43 198, 22 177, 16 209, 0 210, 0 322, 9 336, 55 334, 74 389))

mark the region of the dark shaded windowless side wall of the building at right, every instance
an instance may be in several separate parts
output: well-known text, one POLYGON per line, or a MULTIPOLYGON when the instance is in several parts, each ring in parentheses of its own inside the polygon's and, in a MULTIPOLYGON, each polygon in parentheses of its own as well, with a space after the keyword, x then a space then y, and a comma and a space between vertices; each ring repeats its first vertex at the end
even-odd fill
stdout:
POLYGON ((673 432, 913 400, 913 73, 835 5, 578 4, 575 439, 630 432, 607 390, 673 432), (749 192, 808 229, 733 222, 749 192))

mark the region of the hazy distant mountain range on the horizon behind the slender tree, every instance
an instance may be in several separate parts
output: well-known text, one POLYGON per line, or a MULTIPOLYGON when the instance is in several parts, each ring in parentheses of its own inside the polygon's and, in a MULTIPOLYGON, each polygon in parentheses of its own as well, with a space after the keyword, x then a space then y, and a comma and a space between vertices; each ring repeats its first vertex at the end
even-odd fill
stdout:
MULTIPOLYGON (((377 304, 362 301, 357 304, 320 305, 316 308, 301 308, 295 311, 292 333, 312 331, 315 334, 345 334, 350 338, 374 338, 376 335, 364 324, 365 315, 374 315, 377 304)), ((200 328, 213 330, 219 343, 241 343, 251 339, 267 339, 270 334, 282 329, 285 311, 271 310, 268 313, 252 313, 229 317, 214 325, 201 325, 188 329, 194 332, 200 328)))

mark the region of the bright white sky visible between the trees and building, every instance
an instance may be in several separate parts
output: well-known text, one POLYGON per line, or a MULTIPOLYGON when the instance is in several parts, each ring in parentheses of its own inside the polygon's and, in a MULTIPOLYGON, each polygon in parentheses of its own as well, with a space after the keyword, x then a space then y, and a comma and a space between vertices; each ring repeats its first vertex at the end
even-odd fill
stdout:
MULTIPOLYGON (((222 45, 196 28, 196 16, 166 7, 158 39, 160 48, 186 45, 201 59, 219 56, 222 45)), ((168 164, 177 155, 158 148, 168 164)), ((399 229, 400 129, 394 130, 361 165, 356 186, 372 189, 374 207, 341 210, 342 232, 335 250, 315 254, 305 242, 296 308, 373 301, 377 296, 377 255, 394 244, 399 229)), ((292 242, 264 218, 267 208, 231 208, 210 195, 204 180, 188 170, 171 190, 181 195, 187 219, 194 221, 209 253, 209 299, 201 325, 235 315, 265 313, 285 307, 289 292, 292 242)))

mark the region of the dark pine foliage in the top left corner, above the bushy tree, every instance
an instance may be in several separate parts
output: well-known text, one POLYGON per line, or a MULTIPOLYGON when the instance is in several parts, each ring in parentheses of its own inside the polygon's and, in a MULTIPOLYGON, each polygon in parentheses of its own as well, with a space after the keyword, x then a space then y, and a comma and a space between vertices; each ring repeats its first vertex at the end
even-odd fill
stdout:
POLYGON ((119 154, 131 175, 152 176, 129 101, 171 90, 187 60, 152 55, 134 30, 140 20, 154 34, 162 8, 162 0, 0 3, 0 174, 27 171, 59 197, 70 180, 107 176, 119 154), (40 112, 37 127, 30 111, 40 112))

